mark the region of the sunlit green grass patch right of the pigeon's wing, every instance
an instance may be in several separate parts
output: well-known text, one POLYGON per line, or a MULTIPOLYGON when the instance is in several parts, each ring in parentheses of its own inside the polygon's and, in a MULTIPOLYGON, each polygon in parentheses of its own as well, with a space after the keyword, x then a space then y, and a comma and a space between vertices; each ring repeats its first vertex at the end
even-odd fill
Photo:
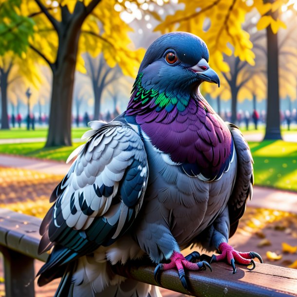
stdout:
POLYGON ((255 184, 297 191, 297 143, 249 143, 254 158, 255 184))

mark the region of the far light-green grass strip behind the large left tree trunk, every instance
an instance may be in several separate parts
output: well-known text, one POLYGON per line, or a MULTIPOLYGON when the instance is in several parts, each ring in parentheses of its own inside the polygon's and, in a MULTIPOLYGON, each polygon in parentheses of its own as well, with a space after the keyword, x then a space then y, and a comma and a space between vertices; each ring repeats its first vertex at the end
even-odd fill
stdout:
MULTIPOLYGON (((81 127, 72 128, 72 138, 80 138, 81 135, 91 128, 81 127)), ((41 138, 47 136, 47 128, 37 128, 36 130, 26 130, 26 128, 11 128, 10 130, 0 130, 0 139, 11 139, 11 138, 41 138)))

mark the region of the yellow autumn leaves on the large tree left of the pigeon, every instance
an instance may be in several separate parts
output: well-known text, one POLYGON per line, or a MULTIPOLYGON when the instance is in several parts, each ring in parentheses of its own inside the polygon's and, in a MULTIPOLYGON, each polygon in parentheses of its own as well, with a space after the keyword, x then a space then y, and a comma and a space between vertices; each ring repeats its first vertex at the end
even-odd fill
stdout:
MULTIPOLYGON (((82 2, 87 6, 90 1, 84 0, 82 2)), ((71 14, 74 13, 74 8, 79 1, 54 0, 41 2, 58 24, 62 20, 62 10, 67 9, 71 14)), ((95 57, 102 52, 109 66, 114 67, 118 64, 124 74, 136 75, 145 51, 144 49, 135 50, 133 48, 128 35, 132 29, 120 18, 120 13, 114 10, 115 3, 114 0, 102 0, 83 22, 76 61, 76 70, 79 72, 86 73, 81 54, 88 52, 95 57)), ((63 41, 62 37, 58 37, 53 24, 44 13, 40 13, 35 0, 23 0, 21 14, 31 17, 35 21, 35 34, 30 37, 31 46, 42 53, 49 62, 54 63, 58 44, 63 41)), ((30 54, 36 56, 36 54, 32 53, 32 50, 30 50, 30 54)), ((42 62, 40 59, 38 61, 42 62)))

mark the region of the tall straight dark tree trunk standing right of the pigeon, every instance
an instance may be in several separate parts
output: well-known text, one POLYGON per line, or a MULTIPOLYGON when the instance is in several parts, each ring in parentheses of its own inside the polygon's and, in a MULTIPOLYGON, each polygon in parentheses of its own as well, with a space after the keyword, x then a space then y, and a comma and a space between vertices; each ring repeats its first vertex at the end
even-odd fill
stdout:
MULTIPOLYGON (((270 0, 269 2, 273 2, 270 0)), ((276 19, 276 12, 272 14, 276 19)), ((282 139, 280 134, 278 90, 278 34, 267 29, 267 114, 264 140, 282 139)))

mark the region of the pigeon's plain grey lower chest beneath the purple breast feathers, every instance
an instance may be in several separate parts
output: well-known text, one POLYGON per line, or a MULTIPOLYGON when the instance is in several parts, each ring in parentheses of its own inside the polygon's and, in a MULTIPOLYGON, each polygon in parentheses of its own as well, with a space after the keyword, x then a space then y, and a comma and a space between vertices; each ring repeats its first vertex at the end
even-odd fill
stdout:
POLYGON ((236 164, 211 183, 188 176, 168 154, 144 138, 149 178, 143 209, 146 220, 167 222, 171 234, 182 245, 202 232, 227 204, 236 164), (227 186, 228 185, 228 186, 227 186))

